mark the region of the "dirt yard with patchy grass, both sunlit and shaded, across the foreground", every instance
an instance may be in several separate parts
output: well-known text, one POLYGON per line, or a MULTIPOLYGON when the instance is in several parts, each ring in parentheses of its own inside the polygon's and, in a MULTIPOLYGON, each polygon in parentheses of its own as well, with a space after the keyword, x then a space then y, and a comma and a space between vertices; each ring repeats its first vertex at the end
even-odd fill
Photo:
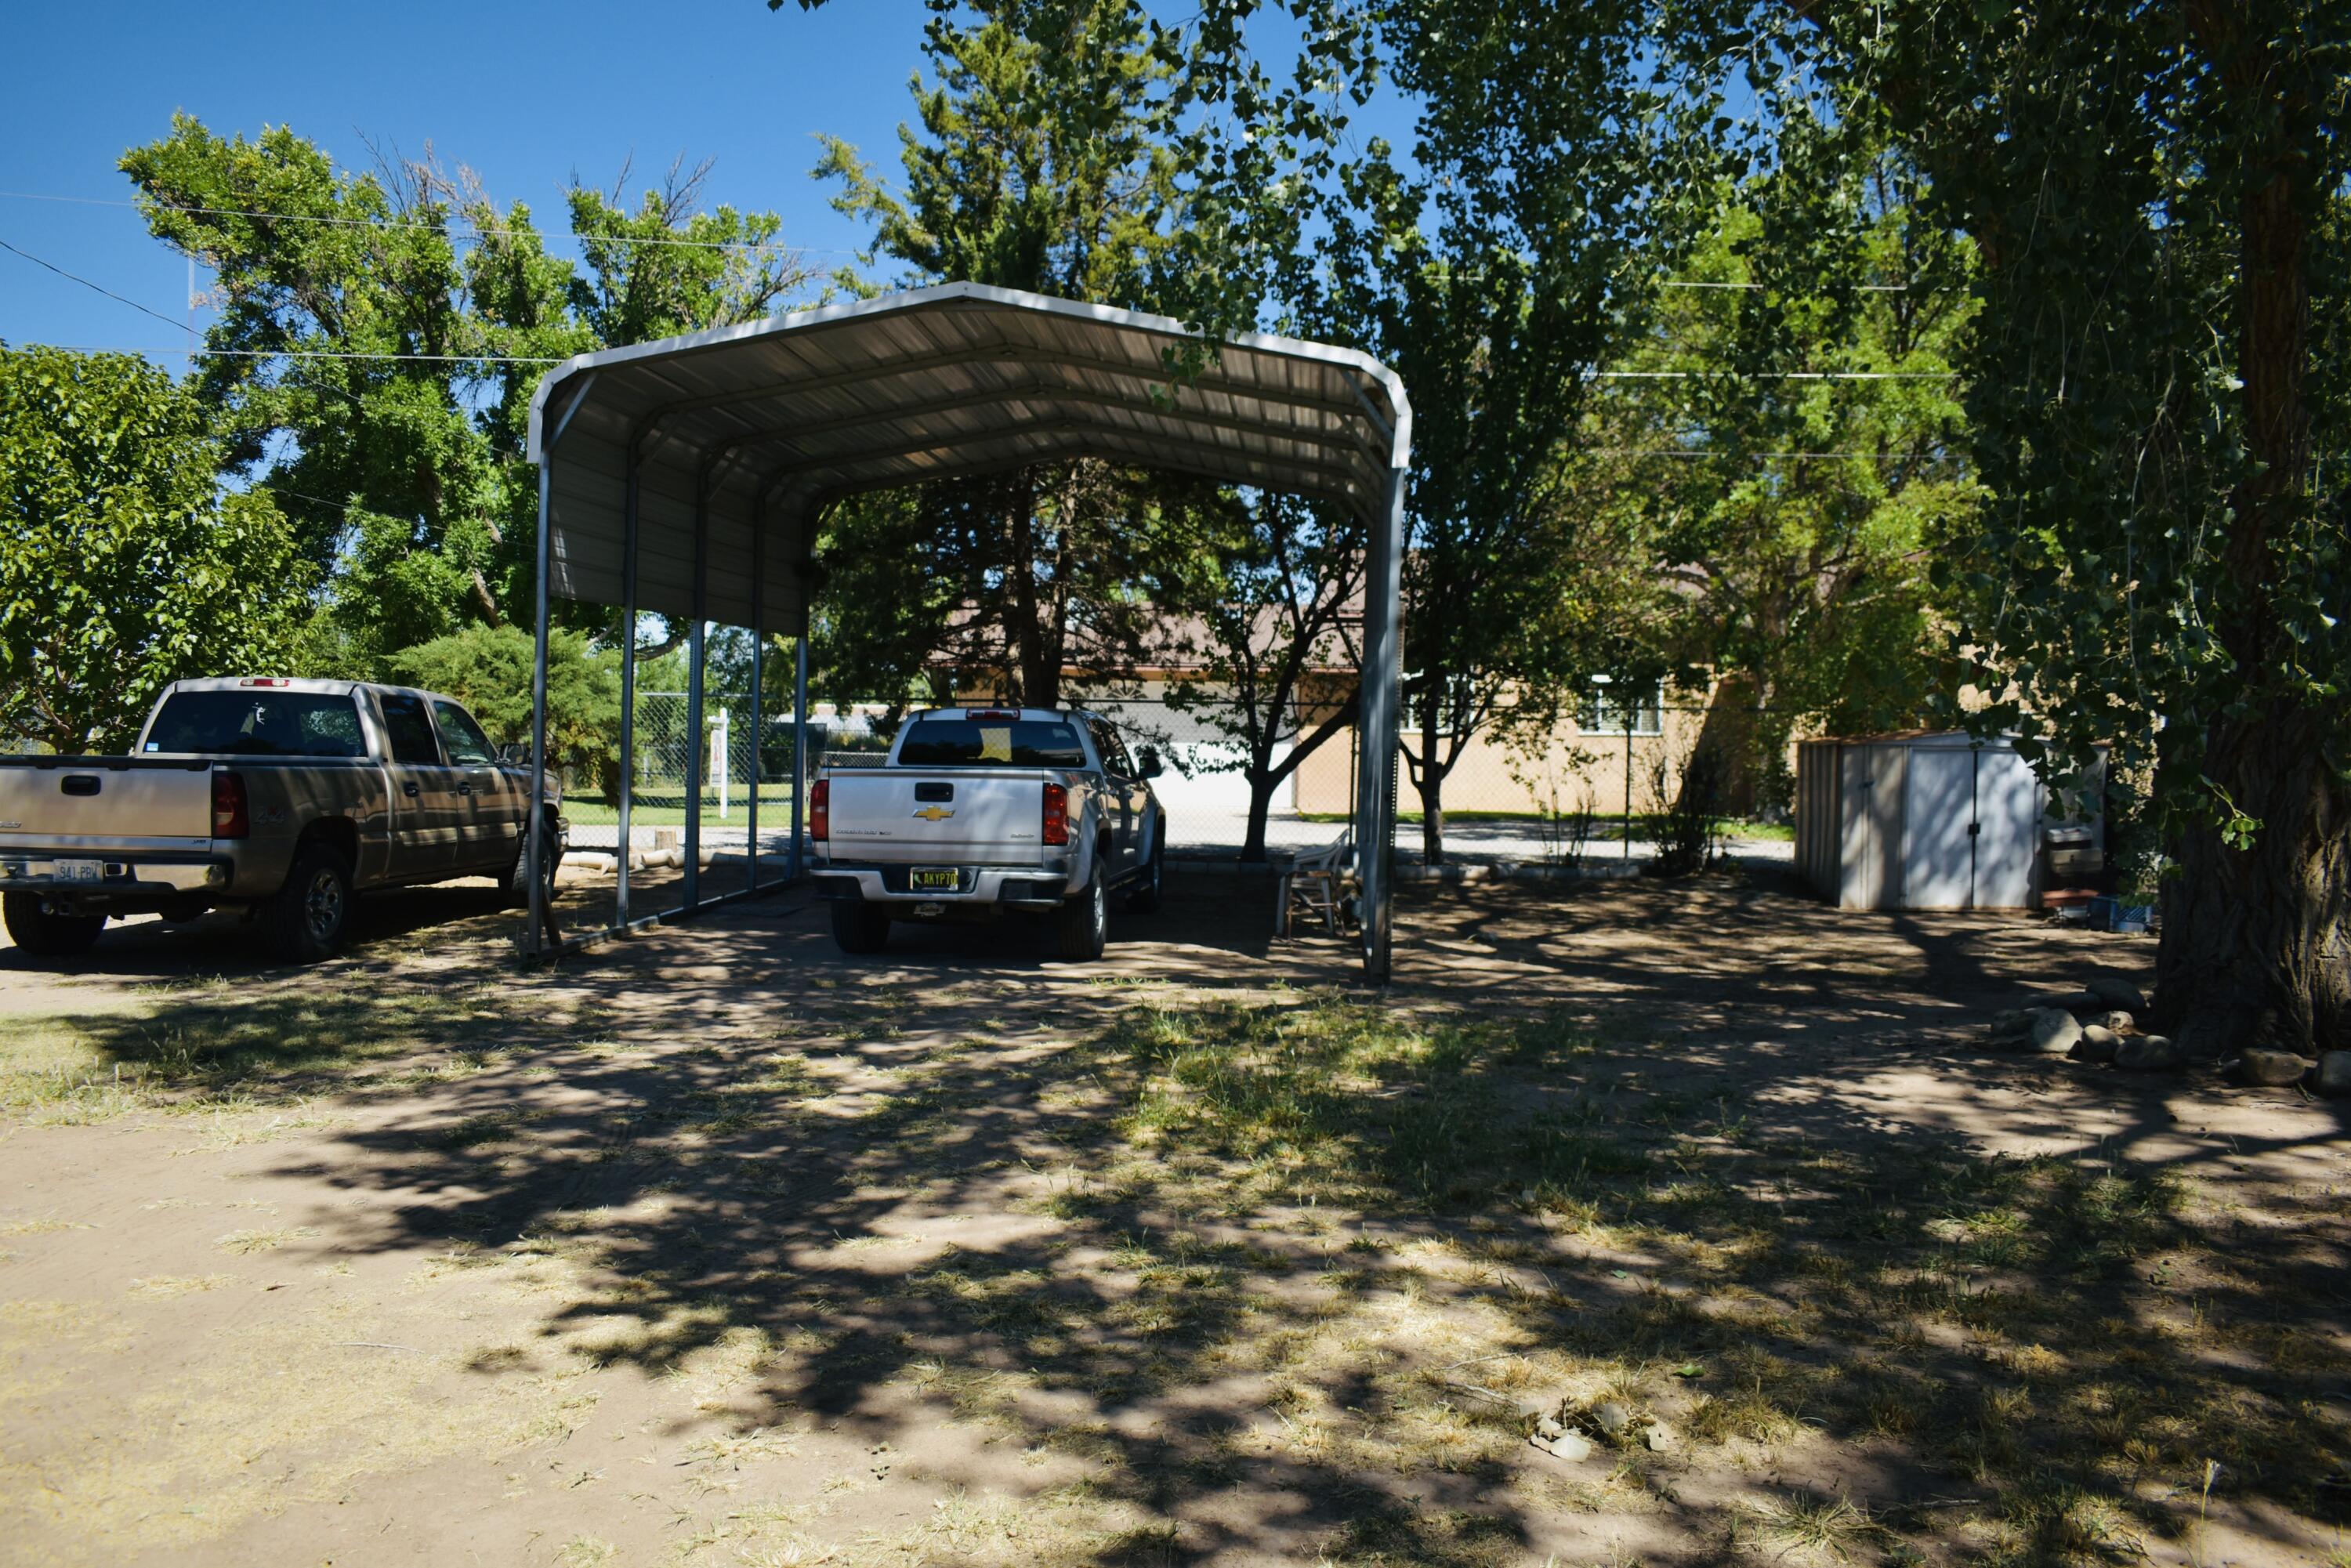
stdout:
POLYGON ((513 919, 0 947, 0 1559, 2351 1563, 2342 1112, 1982 1041, 2146 940, 1418 889, 1373 997, 1234 877, 1096 966, 513 919))

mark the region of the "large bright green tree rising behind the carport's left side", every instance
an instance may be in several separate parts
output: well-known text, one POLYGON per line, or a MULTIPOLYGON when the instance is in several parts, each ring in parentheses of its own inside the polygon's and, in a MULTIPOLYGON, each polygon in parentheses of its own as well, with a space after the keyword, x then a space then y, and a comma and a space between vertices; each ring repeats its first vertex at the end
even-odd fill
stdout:
POLYGON ((755 317, 806 282, 771 214, 698 209, 705 169, 635 212, 574 190, 578 263, 430 150, 355 172, 289 127, 174 115, 122 169, 148 228, 214 273, 195 393, 327 576, 348 672, 529 604, 522 437, 545 362, 755 317))

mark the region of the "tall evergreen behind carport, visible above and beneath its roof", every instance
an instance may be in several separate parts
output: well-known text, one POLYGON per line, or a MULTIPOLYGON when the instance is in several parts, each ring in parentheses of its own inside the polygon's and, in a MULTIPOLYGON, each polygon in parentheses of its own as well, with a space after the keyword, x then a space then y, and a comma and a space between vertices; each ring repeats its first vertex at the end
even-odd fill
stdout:
MULTIPOLYGON (((910 282, 1183 313, 1201 252, 1178 158, 1178 40, 1133 0, 931 9, 933 80, 912 82, 903 181, 837 139, 816 169, 875 226, 870 261, 889 256, 910 282)), ((912 505, 846 501, 823 545, 832 590, 893 609, 828 616, 828 663, 950 668, 1053 705, 1065 677, 1100 682, 1152 656, 1199 599, 1227 515, 1206 487, 1093 458, 929 484, 912 505)))

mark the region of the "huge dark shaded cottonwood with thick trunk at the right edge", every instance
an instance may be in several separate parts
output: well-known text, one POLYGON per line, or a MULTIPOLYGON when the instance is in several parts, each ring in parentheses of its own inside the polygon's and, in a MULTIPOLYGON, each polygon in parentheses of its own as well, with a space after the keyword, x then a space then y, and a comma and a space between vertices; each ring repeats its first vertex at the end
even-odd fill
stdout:
POLYGON ((1982 722, 2151 764, 2191 1051, 2351 1046, 2351 9, 1806 14, 1982 256, 1991 503, 1944 567, 1982 722))

